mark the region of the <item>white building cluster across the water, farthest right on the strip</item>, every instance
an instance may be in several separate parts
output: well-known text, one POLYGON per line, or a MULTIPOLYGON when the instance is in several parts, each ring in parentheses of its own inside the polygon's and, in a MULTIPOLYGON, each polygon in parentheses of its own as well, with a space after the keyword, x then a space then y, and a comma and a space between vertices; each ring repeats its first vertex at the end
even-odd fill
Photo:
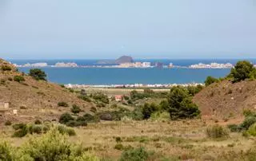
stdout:
POLYGON ((199 63, 197 65, 190 65, 190 69, 231 69, 234 65, 231 63, 226 64, 218 64, 218 63, 210 63, 210 65, 206 65, 203 63, 199 63))

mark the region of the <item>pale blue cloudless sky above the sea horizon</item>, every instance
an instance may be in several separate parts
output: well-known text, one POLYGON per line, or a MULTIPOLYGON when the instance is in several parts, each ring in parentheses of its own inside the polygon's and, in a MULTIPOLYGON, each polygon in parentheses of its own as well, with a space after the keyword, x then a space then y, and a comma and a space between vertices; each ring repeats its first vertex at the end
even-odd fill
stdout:
POLYGON ((256 57, 256 0, 0 0, 6 59, 256 57))

